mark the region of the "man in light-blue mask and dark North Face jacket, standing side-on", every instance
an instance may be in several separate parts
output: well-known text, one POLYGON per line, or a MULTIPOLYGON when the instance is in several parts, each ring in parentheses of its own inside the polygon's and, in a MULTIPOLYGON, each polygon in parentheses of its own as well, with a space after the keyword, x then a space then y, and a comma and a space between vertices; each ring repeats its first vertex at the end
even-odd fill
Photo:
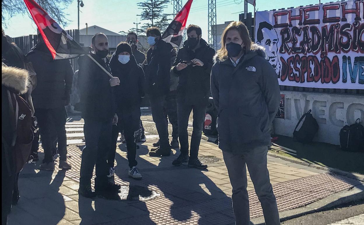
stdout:
MULTIPOLYGON (((170 92, 170 69, 176 52, 170 43, 162 40, 157 27, 147 29, 150 48, 143 63, 146 79, 146 93, 149 94, 153 121, 159 135, 159 147, 150 156, 169 156, 171 146, 168 139, 168 121, 165 114, 165 99, 170 92)), ((157 146, 157 145, 155 145, 157 146)))

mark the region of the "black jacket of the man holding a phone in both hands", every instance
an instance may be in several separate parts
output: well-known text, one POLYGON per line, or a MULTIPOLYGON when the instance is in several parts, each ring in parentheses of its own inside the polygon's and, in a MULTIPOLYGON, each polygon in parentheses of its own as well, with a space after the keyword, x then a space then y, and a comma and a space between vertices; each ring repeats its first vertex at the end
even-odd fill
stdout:
POLYGON ((179 76, 178 101, 189 104, 207 104, 210 97, 210 74, 215 50, 203 39, 201 39, 200 45, 201 47, 195 52, 190 50, 186 44, 178 50, 177 58, 171 68, 172 74, 179 76), (202 67, 189 65, 181 71, 176 70, 178 63, 195 58, 201 60, 204 65, 202 67))

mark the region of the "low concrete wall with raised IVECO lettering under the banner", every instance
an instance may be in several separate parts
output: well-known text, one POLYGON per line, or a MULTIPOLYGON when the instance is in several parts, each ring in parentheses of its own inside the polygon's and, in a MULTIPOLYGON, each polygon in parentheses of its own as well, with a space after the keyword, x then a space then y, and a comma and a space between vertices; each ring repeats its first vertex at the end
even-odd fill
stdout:
POLYGON ((294 127, 303 113, 312 109, 319 129, 314 141, 339 144, 339 132, 360 118, 364 125, 364 96, 281 91, 285 95, 285 119, 275 118, 279 135, 293 136, 294 127))

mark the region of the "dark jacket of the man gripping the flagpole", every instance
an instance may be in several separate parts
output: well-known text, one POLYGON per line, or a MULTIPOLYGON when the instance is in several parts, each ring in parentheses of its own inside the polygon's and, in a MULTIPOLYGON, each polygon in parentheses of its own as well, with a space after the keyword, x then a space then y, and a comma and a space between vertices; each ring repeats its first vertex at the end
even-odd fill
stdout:
MULTIPOLYGON (((95 54, 90 54, 109 72, 108 61, 95 54)), ((110 86, 110 77, 87 55, 78 59, 78 84, 80 92, 80 110, 84 119, 103 121, 111 120, 115 115, 115 96, 110 86)))

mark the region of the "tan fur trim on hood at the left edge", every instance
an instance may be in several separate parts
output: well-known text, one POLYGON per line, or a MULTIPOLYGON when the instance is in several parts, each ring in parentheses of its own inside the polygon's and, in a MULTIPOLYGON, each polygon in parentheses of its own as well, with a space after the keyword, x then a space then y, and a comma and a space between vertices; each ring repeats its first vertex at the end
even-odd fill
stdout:
POLYGON ((24 94, 29 86, 28 71, 2 64, 1 85, 12 88, 19 94, 24 94))

